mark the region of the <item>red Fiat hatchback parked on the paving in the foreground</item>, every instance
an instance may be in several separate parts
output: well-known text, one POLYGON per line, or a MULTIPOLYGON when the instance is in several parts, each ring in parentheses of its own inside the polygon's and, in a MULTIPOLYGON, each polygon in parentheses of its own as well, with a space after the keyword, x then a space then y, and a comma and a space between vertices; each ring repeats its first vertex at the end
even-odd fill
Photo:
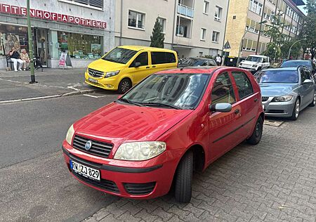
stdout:
POLYGON ((190 202, 203 171, 263 131, 261 91, 235 67, 187 67, 152 74, 70 126, 62 143, 74 178, 112 195, 150 199, 174 188, 190 202))

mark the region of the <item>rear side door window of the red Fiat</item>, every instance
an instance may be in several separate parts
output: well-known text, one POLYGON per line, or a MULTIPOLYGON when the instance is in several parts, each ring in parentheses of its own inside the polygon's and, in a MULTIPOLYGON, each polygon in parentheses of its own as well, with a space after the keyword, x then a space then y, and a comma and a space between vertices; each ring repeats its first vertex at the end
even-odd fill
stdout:
POLYGON ((232 72, 232 77, 234 77, 235 79, 239 93, 239 98, 241 100, 254 93, 251 81, 244 72, 232 72))

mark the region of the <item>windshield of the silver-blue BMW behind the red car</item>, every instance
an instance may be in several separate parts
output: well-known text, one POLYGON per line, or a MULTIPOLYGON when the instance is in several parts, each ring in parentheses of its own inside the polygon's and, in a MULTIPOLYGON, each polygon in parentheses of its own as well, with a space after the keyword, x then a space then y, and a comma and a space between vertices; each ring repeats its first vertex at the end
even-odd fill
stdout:
POLYGON ((298 72, 296 70, 265 70, 254 75, 256 81, 260 83, 298 83, 298 72))

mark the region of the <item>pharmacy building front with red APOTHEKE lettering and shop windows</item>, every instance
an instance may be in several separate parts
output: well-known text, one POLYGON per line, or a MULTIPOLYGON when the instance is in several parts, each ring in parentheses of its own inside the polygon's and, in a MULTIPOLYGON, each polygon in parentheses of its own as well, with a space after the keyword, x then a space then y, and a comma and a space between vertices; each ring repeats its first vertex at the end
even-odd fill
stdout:
MULTIPOLYGON (((34 55, 58 67, 60 53, 73 67, 86 67, 114 47, 114 0, 30 1, 34 55)), ((14 46, 29 51, 26 1, 0 0, 0 69, 14 46)))

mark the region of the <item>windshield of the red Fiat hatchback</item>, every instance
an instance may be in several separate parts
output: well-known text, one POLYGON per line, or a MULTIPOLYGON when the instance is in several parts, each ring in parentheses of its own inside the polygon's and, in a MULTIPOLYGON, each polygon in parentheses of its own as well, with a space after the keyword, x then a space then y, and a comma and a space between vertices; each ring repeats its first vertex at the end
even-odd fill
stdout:
POLYGON ((119 100, 135 105, 194 109, 209 74, 152 74, 119 100))

